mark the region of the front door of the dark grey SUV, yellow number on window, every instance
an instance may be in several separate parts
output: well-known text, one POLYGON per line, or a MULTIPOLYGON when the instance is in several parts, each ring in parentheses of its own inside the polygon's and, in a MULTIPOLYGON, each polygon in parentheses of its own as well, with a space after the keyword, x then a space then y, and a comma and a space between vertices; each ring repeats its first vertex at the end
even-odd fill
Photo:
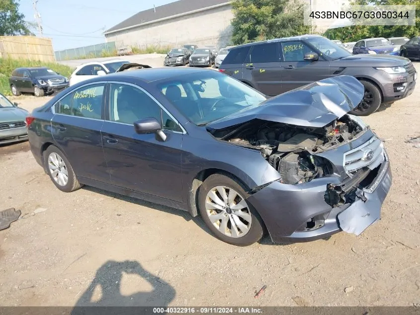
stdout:
POLYGON ((322 56, 317 61, 305 61, 307 53, 317 53, 301 41, 282 42, 282 93, 330 76, 330 62, 322 56))

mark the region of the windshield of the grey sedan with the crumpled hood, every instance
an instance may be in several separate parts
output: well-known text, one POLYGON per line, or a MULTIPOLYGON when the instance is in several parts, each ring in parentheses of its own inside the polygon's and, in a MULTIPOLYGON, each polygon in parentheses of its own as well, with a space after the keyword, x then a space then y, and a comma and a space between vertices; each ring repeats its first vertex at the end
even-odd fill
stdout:
POLYGON ((266 100, 247 85, 215 71, 170 78, 159 83, 158 89, 196 125, 205 125, 266 100))

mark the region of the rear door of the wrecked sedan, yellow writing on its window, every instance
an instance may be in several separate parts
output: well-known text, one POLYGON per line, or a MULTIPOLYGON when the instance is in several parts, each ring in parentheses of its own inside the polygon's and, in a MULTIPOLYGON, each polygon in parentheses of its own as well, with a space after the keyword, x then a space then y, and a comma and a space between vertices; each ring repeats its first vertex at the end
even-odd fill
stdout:
POLYGON ((51 126, 78 177, 110 183, 100 135, 105 90, 106 83, 95 83, 67 94, 55 105, 51 126))

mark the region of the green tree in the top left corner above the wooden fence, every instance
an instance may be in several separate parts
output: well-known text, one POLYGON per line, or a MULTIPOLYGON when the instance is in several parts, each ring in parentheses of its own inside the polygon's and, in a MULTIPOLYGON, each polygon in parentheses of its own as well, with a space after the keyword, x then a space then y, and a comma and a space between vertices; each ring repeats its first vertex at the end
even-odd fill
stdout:
POLYGON ((0 36, 31 34, 25 16, 18 9, 17 0, 0 0, 0 36))

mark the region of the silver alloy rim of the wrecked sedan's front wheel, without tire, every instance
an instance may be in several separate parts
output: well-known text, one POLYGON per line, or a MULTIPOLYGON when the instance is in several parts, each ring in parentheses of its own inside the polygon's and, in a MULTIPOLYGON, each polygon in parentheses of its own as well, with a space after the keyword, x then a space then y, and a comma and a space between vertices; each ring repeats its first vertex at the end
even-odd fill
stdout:
POLYGON ((250 231, 251 211, 245 199, 226 186, 212 188, 206 196, 206 213, 210 222, 224 235, 238 238, 250 231))

